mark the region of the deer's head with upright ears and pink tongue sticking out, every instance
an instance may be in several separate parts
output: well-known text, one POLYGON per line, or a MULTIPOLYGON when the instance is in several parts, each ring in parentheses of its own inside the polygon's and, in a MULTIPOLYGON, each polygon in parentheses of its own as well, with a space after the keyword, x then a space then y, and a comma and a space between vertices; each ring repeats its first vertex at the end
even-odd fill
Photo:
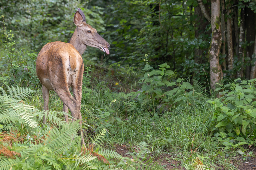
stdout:
MULTIPOLYGON (((92 28, 92 26, 90 26, 89 24, 86 24, 84 12, 80 8, 78 8, 75 13, 74 23, 77 26, 76 41, 79 41, 81 45, 86 45, 86 46, 88 45, 91 47, 99 48, 101 51, 109 54, 109 50, 108 50, 108 48, 110 47, 109 43, 97 33, 96 29, 92 28)), ((72 41, 72 38, 70 41, 72 41)), ((73 45, 74 43, 71 43, 71 44, 73 45)), ((80 52, 79 49, 77 50, 80 52)))

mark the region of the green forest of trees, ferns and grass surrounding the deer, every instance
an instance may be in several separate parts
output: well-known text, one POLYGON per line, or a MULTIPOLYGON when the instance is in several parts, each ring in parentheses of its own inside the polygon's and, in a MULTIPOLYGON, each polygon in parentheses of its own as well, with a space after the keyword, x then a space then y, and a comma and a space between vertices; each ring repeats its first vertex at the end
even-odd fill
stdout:
POLYGON ((0 9, 0 169, 234 169, 254 158, 256 1, 2 0, 0 9), (70 143, 79 125, 63 123, 54 92, 42 126, 35 68, 46 43, 69 41, 77 8, 110 44, 109 55, 82 55, 87 149, 70 143))

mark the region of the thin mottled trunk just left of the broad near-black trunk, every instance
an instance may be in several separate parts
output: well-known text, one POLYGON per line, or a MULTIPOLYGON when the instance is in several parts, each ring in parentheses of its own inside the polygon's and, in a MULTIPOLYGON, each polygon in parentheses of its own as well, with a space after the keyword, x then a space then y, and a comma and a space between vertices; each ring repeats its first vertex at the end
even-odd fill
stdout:
POLYGON ((244 22, 244 8, 241 9, 240 14, 240 33, 239 33, 239 52, 238 52, 238 63, 241 62, 241 68, 237 71, 237 77, 244 77, 244 48, 242 44, 244 42, 245 35, 245 22, 244 22))

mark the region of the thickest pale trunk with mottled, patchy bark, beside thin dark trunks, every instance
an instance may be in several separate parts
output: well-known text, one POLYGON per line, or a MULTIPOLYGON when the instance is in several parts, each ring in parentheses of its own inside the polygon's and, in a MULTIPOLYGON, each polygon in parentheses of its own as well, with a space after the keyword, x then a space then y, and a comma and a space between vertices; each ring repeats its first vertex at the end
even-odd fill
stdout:
POLYGON ((220 30, 220 0, 211 1, 212 17, 212 41, 209 49, 211 88, 215 90, 215 84, 220 82, 222 70, 220 67, 220 45, 221 45, 221 30, 220 30))

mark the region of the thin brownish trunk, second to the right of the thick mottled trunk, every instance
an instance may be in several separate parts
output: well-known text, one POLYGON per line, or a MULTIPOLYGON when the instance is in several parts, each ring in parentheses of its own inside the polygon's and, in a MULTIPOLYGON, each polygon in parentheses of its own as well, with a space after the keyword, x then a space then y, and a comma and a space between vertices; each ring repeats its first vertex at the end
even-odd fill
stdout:
POLYGON ((231 9, 228 9, 227 15, 227 41, 228 41, 228 70, 233 69, 233 58, 234 58, 234 49, 233 49, 233 40, 232 40, 232 16, 229 16, 231 9))

